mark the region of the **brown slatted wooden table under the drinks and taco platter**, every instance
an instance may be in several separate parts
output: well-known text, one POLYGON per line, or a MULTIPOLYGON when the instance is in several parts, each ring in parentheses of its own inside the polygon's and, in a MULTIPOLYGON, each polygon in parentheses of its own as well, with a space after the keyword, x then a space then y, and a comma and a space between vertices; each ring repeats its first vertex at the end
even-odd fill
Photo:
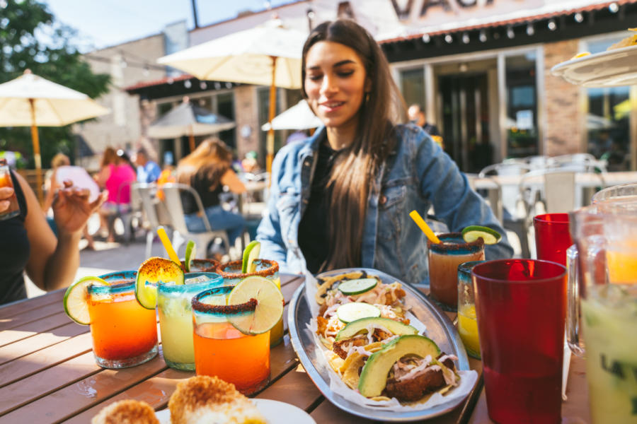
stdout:
MULTIPOLYGON (((282 275, 286 307, 303 278, 282 275)), ((148 363, 122 370, 98 367, 91 351, 88 326, 64 314, 64 290, 0 307, 0 423, 83 423, 104 406, 121 399, 146 401, 166 408, 176 384, 194 375, 166 367, 158 355, 148 363)), ((287 333, 287 323, 285 323, 287 333)), ((159 331, 158 331, 159 333, 159 331)), ((321 395, 292 350, 289 337, 272 348, 271 380, 256 397, 285 401, 304 409, 317 423, 372 423, 340 411, 321 395)), ((481 362, 470 360, 481 372, 481 362)), ((573 360, 569 400, 563 416, 569 423, 590 422, 583 361, 573 360), (580 418, 580 420, 571 420, 580 418)), ((432 424, 489 423, 486 400, 475 390, 475 405, 463 402, 432 424)))

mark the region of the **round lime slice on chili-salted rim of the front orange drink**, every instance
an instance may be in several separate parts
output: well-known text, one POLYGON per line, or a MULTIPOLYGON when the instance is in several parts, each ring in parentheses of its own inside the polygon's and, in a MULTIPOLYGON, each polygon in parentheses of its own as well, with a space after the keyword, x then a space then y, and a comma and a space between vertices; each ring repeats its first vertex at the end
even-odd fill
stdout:
POLYGON ((263 334, 283 316, 283 295, 275 283, 259 276, 243 278, 228 295, 228 305, 241 305, 254 299, 256 310, 231 314, 228 321, 243 334, 263 334))

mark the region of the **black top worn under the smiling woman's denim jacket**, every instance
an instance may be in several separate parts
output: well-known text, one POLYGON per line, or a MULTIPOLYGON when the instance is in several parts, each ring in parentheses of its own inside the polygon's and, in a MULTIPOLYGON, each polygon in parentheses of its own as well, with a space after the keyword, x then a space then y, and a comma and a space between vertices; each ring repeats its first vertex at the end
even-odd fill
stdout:
POLYGON ((328 212, 331 189, 327 185, 337 156, 338 151, 332 150, 327 140, 321 143, 309 203, 299 224, 299 247, 311 273, 319 272, 330 250, 328 212))

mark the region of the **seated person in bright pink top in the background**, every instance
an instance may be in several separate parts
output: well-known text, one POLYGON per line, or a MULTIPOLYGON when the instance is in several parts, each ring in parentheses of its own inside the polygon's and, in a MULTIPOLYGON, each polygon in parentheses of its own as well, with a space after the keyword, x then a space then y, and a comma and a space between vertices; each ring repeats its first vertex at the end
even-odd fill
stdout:
POLYGON ((100 173, 97 182, 103 189, 108 190, 108 199, 100 209, 102 226, 108 228, 108 242, 115 241, 113 216, 130 210, 130 184, 135 182, 137 175, 125 158, 117 155, 112 147, 106 148, 102 156, 100 173))

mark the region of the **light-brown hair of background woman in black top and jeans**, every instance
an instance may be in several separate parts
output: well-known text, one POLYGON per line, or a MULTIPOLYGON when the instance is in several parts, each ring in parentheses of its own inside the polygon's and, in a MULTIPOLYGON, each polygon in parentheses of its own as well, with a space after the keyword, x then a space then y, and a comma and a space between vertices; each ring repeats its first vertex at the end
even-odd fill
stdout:
POLYGON ((232 152, 226 144, 211 137, 200 143, 190 155, 185 156, 177 165, 177 182, 190 185, 193 176, 203 173, 205 179, 214 181, 211 190, 217 188, 221 177, 232 165, 232 152))

